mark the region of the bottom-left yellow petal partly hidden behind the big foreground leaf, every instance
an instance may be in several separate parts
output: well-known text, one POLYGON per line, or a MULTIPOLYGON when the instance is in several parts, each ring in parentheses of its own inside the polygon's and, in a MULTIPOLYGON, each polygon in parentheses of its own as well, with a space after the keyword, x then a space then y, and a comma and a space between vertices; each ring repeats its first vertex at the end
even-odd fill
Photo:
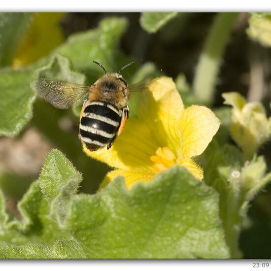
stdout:
POLYGON ((126 186, 130 188, 136 182, 148 182, 155 176, 153 170, 145 168, 136 169, 115 169, 107 173, 99 189, 105 187, 109 182, 113 181, 117 176, 121 175, 124 177, 126 186))

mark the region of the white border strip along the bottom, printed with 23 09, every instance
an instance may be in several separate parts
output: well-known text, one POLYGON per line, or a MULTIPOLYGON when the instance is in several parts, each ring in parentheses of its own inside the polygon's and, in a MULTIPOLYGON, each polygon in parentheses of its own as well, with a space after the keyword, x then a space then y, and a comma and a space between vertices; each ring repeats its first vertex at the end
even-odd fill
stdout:
MULTIPOLYGON (((270 270, 271 260, 1 260, 0 267, 12 268, 20 271, 238 271, 270 270), (253 263, 259 263, 261 267, 253 268, 253 263), (262 267, 262 263, 269 263, 268 268, 262 267)), ((4 269, 6 270, 6 269, 4 269)))

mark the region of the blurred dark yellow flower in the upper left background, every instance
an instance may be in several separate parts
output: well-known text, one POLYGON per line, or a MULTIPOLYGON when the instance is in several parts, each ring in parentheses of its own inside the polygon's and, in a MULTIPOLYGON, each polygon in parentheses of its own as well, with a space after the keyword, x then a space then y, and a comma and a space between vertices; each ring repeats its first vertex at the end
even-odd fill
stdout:
POLYGON ((33 14, 33 21, 21 42, 13 60, 14 68, 21 68, 46 56, 64 41, 60 29, 63 12, 39 12, 33 14))

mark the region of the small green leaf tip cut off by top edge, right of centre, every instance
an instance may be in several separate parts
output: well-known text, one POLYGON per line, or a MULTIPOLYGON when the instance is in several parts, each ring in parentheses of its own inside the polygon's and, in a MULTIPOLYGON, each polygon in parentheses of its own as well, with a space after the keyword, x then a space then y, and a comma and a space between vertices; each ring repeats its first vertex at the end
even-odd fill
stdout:
POLYGON ((177 12, 143 12, 140 17, 140 25, 148 33, 156 33, 177 14, 177 12))

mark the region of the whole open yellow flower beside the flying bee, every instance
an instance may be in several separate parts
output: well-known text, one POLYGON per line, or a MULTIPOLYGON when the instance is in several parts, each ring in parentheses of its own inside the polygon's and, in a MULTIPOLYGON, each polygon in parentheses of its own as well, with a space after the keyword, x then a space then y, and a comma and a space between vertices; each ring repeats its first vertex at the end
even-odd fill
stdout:
POLYGON ((203 153, 219 128, 214 113, 192 105, 184 109, 182 99, 171 78, 160 77, 149 85, 137 108, 137 117, 131 117, 112 147, 91 152, 112 168, 101 187, 116 176, 125 178, 127 187, 135 182, 147 182, 173 165, 188 169, 196 179, 203 179, 203 170, 193 157, 203 153))

